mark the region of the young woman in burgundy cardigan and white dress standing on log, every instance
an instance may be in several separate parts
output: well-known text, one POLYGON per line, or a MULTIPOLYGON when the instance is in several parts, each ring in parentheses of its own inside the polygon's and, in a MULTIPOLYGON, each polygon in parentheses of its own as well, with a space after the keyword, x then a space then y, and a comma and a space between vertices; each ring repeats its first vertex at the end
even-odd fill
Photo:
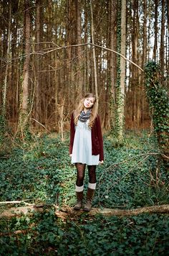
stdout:
POLYGON ((92 93, 85 95, 79 102, 77 109, 72 113, 69 155, 77 168, 75 188, 77 204, 75 204, 74 209, 79 210, 82 207, 84 171, 87 165, 89 184, 84 211, 90 211, 96 188, 96 166, 103 163, 104 160, 100 116, 97 114, 97 99, 92 93))

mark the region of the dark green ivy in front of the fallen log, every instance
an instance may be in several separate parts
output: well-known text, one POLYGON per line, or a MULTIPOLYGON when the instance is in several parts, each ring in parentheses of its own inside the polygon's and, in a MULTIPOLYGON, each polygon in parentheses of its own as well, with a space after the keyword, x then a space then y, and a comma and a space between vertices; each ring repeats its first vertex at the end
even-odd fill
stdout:
POLYGON ((0 255, 167 255, 168 225, 158 214, 60 221, 49 209, 1 221, 0 255))

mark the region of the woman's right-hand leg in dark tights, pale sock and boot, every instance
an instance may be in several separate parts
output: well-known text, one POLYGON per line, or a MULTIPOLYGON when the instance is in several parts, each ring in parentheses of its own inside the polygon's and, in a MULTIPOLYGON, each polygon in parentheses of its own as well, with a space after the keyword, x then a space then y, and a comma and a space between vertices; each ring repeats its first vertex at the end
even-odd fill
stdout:
POLYGON ((89 185, 87 189, 87 201, 84 206, 84 211, 90 211, 92 207, 92 198, 96 188, 96 165, 88 165, 89 185))

